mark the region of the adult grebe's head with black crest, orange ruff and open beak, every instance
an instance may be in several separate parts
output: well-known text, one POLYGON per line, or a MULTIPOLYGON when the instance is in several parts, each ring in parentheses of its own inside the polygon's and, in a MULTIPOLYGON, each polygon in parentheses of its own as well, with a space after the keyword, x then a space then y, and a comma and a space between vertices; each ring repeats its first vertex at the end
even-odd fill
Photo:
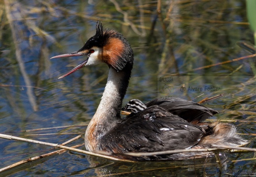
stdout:
POLYGON ((86 65, 95 65, 100 62, 106 63, 117 72, 122 71, 127 65, 129 70, 131 70, 133 64, 133 51, 127 39, 115 30, 103 30, 100 22, 96 23, 96 34, 86 41, 81 49, 69 54, 58 55, 51 59, 84 55, 88 57, 85 61, 59 77, 59 79, 72 74, 86 65))

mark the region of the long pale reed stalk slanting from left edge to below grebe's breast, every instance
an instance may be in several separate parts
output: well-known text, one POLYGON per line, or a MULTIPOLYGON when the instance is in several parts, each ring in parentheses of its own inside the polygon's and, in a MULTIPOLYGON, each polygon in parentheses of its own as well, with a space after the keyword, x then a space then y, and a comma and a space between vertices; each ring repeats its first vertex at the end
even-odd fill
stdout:
POLYGON ((54 144, 54 143, 47 143, 47 142, 42 142, 42 141, 30 140, 30 139, 19 138, 19 137, 10 136, 10 135, 0 134, 0 138, 4 138, 4 139, 8 139, 8 140, 18 140, 18 141, 36 143, 36 144, 40 144, 40 145, 51 146, 51 147, 55 147, 55 148, 62 148, 62 149, 66 149, 66 150, 72 150, 72 151, 75 151, 75 152, 80 152, 80 153, 84 153, 84 154, 88 154, 88 155, 94 155, 94 156, 106 158, 106 159, 109 159, 109 160, 134 162, 134 161, 131 161, 131 160, 118 159, 118 158, 111 157, 111 156, 108 156, 108 155, 102 155, 102 154, 89 152, 89 151, 86 151, 86 150, 80 150, 80 149, 76 149, 76 148, 70 148, 70 147, 66 147, 66 146, 62 146, 62 145, 58 145, 58 144, 54 144))

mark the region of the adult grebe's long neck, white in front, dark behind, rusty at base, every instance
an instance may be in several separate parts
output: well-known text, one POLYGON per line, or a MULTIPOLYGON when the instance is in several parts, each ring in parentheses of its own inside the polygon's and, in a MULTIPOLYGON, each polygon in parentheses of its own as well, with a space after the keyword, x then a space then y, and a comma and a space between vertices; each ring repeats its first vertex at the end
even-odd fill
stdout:
POLYGON ((101 101, 86 129, 85 144, 88 150, 100 150, 97 147, 98 141, 121 120, 120 111, 129 77, 130 73, 117 72, 113 68, 109 69, 107 84, 101 101))

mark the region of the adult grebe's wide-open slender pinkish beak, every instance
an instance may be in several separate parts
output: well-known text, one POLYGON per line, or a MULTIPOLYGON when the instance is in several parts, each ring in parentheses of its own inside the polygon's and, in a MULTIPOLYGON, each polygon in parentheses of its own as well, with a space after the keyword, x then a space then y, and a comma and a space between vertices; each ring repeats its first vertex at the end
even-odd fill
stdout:
MULTIPOLYGON (((78 53, 77 51, 76 52, 72 52, 70 54, 63 54, 63 55, 58 55, 58 56, 54 56, 52 57, 51 59, 57 59, 57 58, 63 58, 63 57, 77 57, 77 56, 83 56, 83 55, 86 55, 86 56, 89 56, 89 54, 86 54, 86 53, 78 53)), ((89 57, 88 57, 89 59, 89 57)), ((81 69, 82 67, 84 67, 88 61, 88 59, 86 59, 85 61, 83 61, 82 63, 80 63, 78 66, 76 66, 75 68, 73 68, 72 70, 66 72, 64 75, 62 75, 61 77, 59 77, 58 79, 62 79, 64 78, 65 76, 68 76, 69 74, 72 74, 73 72, 81 69)))

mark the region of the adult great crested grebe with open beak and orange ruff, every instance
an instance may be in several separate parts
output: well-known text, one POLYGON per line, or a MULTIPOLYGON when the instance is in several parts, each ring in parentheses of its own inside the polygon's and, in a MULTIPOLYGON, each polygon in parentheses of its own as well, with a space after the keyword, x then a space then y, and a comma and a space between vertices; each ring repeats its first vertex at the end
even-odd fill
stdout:
MULTIPOLYGON (((122 119, 120 111, 133 65, 133 51, 127 39, 115 30, 103 30, 101 23, 97 22, 96 34, 80 50, 51 59, 83 55, 88 58, 60 78, 99 62, 104 62, 109 67, 101 101, 85 132, 87 150, 112 153, 152 152, 208 148, 213 144, 237 146, 245 143, 230 124, 215 122, 198 126, 190 123, 203 121, 218 112, 180 98, 152 100, 146 104, 145 109, 122 119)), ((136 159, 159 160, 173 157, 136 159)))

